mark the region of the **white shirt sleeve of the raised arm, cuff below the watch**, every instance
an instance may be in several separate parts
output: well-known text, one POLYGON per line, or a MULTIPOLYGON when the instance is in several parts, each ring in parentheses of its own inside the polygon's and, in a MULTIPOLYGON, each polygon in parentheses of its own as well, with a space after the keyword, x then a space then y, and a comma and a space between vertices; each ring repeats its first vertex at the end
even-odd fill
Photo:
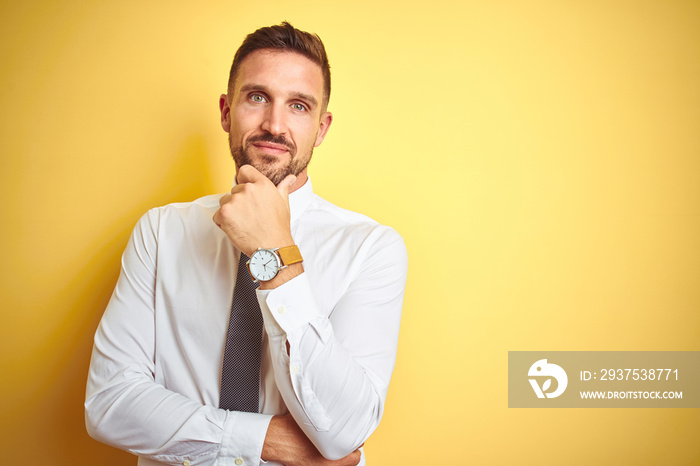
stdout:
POLYGON ((333 309, 319 308, 306 272, 257 291, 277 387, 329 459, 352 453, 379 425, 396 361, 406 248, 386 227, 363 246, 353 258, 358 272, 333 309))

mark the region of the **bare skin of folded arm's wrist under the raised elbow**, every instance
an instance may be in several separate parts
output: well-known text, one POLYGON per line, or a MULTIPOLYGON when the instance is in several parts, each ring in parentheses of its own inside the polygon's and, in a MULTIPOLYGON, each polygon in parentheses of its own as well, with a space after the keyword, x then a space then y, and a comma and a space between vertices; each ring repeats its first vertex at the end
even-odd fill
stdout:
POLYGON ((291 414, 272 418, 261 457, 265 461, 277 461, 286 466, 355 466, 362 458, 360 450, 339 460, 324 458, 291 414))

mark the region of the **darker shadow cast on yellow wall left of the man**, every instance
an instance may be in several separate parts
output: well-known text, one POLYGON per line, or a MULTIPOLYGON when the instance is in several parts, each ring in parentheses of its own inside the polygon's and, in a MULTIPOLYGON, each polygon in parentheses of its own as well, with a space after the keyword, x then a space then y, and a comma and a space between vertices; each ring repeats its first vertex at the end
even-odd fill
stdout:
MULTIPOLYGON (((206 144, 200 135, 186 139, 182 149, 163 166, 160 179, 149 188, 127 187, 147 193, 141 205, 148 208, 193 200, 211 194, 212 179, 206 144)), ((42 439, 40 451, 32 455, 34 464, 52 465, 123 465, 135 464, 134 456, 100 444, 86 432, 83 403, 92 341, 102 313, 109 302, 120 270, 120 259, 142 207, 127 209, 96 238, 84 238, 76 260, 82 266, 73 277, 66 277, 65 296, 58 296, 67 310, 64 323, 56 329, 47 351, 59 353, 51 374, 37 376, 36 399, 25 417, 28 425, 19 432, 36 432, 42 439)), ((60 276, 60 272, 56 272, 60 276)), ((26 410, 26 407, 25 407, 26 410)), ((17 416, 16 418, 20 418, 17 416)), ((26 459, 26 458, 25 458, 26 459)))

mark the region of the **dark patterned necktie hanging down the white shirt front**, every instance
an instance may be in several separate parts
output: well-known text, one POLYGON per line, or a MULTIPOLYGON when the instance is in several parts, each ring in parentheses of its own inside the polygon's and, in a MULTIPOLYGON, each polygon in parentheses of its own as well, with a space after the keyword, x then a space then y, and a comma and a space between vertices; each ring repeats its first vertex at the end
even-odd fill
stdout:
POLYGON ((263 318, 255 295, 260 283, 250 277, 247 261, 248 256, 241 254, 221 368, 219 407, 257 413, 263 318))

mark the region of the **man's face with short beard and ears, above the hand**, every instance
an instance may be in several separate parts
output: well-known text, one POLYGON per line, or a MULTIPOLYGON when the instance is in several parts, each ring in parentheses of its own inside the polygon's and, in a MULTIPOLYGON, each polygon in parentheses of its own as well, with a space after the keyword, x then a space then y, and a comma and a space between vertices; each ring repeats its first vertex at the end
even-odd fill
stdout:
POLYGON ((332 121, 323 108, 321 67, 293 52, 248 55, 219 106, 236 168, 250 164, 275 185, 306 174, 332 121))

